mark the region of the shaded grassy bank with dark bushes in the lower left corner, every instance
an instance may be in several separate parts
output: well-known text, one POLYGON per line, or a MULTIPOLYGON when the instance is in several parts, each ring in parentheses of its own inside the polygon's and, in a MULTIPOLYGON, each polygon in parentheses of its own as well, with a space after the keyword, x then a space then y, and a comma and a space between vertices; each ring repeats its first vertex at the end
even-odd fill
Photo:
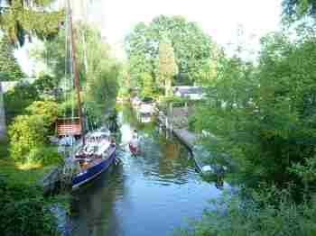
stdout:
POLYGON ((4 235, 60 235, 70 231, 65 220, 70 197, 51 197, 42 188, 42 178, 55 165, 14 161, 9 158, 7 142, 1 144, 5 145, 0 148, 0 193, 5 195, 0 201, 0 216, 4 216, 0 217, 0 230, 4 235), (18 215, 23 215, 23 219, 18 215), (35 215, 41 215, 40 219, 35 215))

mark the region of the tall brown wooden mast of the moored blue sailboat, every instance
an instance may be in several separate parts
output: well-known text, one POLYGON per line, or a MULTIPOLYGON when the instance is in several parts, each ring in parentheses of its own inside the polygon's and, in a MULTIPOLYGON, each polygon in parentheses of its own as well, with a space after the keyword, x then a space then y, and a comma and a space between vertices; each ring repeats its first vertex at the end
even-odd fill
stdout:
POLYGON ((83 145, 85 145, 85 131, 84 131, 84 125, 83 125, 83 115, 82 115, 82 106, 81 106, 81 97, 80 97, 80 85, 79 85, 79 70, 77 67, 77 57, 76 57, 76 43, 75 43, 75 37, 74 37, 74 31, 72 27, 72 12, 70 7, 70 0, 67 0, 68 4, 68 11, 69 11, 69 17, 70 17, 70 33, 71 33, 71 54, 72 54, 72 68, 75 72, 75 87, 76 87, 76 93, 77 93, 77 102, 78 102, 78 115, 79 115, 79 123, 81 128, 81 134, 82 134, 82 142, 83 145))

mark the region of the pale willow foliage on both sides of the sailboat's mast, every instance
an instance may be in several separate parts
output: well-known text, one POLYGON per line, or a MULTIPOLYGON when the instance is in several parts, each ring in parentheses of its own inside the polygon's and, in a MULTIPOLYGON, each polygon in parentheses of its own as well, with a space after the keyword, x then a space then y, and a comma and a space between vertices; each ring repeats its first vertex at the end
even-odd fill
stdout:
MULTIPOLYGON (((76 24, 75 28, 78 32, 75 37, 78 42, 76 56, 84 109, 88 115, 88 123, 98 123, 107 111, 114 109, 122 68, 111 56, 109 45, 101 41, 100 32, 82 23, 76 24)), ((47 71, 42 71, 42 80, 37 79, 36 85, 40 87, 41 81, 50 82, 44 84, 44 87, 51 87, 47 94, 62 102, 60 107, 63 115, 78 113, 73 77, 70 76, 70 47, 65 50, 69 39, 70 35, 65 30, 60 30, 53 41, 45 41, 43 48, 33 50, 33 56, 44 62, 48 68, 47 71)))

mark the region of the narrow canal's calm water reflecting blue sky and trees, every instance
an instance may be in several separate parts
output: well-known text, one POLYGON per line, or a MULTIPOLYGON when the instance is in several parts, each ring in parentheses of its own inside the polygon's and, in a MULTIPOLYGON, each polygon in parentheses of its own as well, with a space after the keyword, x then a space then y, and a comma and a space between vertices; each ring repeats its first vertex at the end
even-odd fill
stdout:
POLYGON ((129 108, 119 123, 121 143, 137 130, 144 153, 119 151, 121 165, 74 193, 73 235, 172 235, 199 219, 221 190, 202 180, 189 151, 153 123, 138 123, 129 108))

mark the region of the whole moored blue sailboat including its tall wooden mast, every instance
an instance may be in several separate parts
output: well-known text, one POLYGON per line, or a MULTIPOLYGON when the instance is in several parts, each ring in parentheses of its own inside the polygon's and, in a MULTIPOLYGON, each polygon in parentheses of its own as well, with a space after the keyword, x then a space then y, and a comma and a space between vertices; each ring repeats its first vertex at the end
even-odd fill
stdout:
MULTIPOLYGON (((112 164, 115 163, 116 142, 114 138, 111 137, 110 132, 105 131, 104 129, 99 129, 96 132, 88 132, 85 135, 79 89, 79 71, 76 67, 76 44, 73 37, 70 0, 68 0, 67 5, 67 21, 69 21, 71 37, 72 68, 75 72, 74 82, 77 93, 79 117, 76 118, 76 123, 73 123, 72 119, 71 123, 67 123, 64 126, 60 125, 60 130, 62 131, 63 127, 63 129, 66 130, 68 133, 78 134, 78 132, 80 132, 81 134, 81 142, 79 143, 79 148, 74 150, 67 157, 65 165, 65 169, 71 170, 71 186, 72 189, 75 189, 89 182, 95 177, 98 177, 98 175, 106 171, 112 164)), ((72 138, 70 140, 70 145, 72 145, 73 147, 74 141, 72 141, 72 138)))

